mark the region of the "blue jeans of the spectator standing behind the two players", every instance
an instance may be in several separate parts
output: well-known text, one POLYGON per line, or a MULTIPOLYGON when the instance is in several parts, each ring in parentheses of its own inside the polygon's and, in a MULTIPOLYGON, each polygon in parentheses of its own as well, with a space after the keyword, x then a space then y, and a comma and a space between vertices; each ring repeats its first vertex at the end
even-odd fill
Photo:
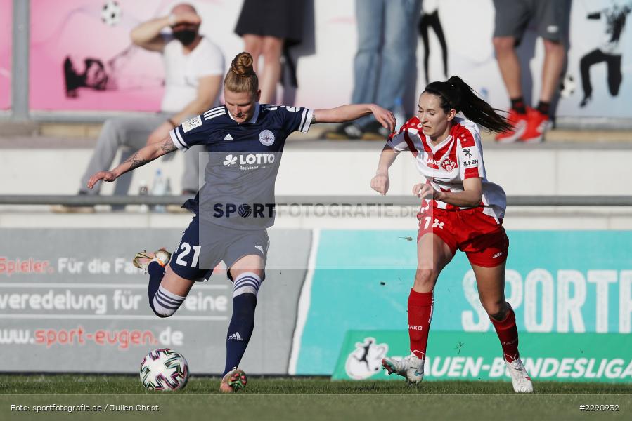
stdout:
MULTIPOLYGON (((404 99, 407 76, 417 74, 417 22, 421 0, 356 0, 358 52, 352 102, 393 109, 404 99)), ((366 126, 373 116, 356 121, 366 126)))

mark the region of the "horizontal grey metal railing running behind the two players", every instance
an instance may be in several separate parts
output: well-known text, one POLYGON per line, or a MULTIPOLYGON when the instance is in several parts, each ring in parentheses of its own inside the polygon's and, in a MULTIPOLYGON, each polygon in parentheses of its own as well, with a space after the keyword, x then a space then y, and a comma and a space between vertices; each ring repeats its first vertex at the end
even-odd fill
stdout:
MULTIPOLYGON (((0 195, 0 205, 181 205, 191 196, 0 195)), ((276 196, 277 206, 416 206, 414 196, 276 196)), ((632 196, 508 196, 508 206, 632 206, 632 196)))

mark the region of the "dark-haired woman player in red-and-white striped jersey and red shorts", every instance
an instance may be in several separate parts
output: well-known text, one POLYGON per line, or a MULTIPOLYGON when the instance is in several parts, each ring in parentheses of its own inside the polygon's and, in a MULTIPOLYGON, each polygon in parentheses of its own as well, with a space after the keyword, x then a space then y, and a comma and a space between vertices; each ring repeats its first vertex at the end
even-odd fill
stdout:
POLYGON ((382 150, 371 187, 389 188, 388 170, 399 152, 415 156, 424 183, 413 186, 422 199, 417 215, 417 271, 408 295, 411 355, 385 358, 389 374, 418 383, 432 320, 432 290, 441 269, 456 250, 465 252, 476 276, 479 298, 501 340, 515 392, 532 392, 531 378, 518 354, 515 314, 505 301, 505 261, 509 240, 503 229, 506 199, 503 189, 485 174, 478 126, 502 132, 508 121, 479 98, 458 76, 432 82, 419 97, 418 115, 391 135, 382 150), (457 116, 457 114, 463 114, 457 116))

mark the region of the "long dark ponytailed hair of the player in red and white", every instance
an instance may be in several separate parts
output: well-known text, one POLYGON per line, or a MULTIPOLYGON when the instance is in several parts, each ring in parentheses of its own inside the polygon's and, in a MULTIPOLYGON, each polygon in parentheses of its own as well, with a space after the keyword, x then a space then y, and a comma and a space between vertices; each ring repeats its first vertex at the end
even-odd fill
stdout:
POLYGON ((511 123, 497 113, 501 110, 479 98, 470 85, 458 76, 452 76, 446 82, 432 82, 426 86, 424 92, 441 98, 441 109, 444 112, 456 109, 456 112, 462 112, 467 119, 489 131, 501 133, 512 128, 511 123))

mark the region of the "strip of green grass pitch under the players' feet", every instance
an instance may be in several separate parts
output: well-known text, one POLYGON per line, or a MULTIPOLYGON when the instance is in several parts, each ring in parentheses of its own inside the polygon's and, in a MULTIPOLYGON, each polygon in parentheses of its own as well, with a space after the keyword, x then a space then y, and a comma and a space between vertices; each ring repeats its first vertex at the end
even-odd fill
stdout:
POLYGON ((631 384, 536 382, 534 388, 536 393, 524 395, 514 394, 510 382, 409 386, 404 381, 250 377, 244 392, 225 395, 219 394, 217 377, 192 377, 179 392, 148 392, 136 376, 1 375, 0 420, 632 419, 631 384), (91 410, 70 412, 81 404, 91 410), (20 405, 29 410, 15 409, 20 405), (42 409, 50 405, 59 409, 42 409), (582 405, 601 409, 581 410, 582 405))

